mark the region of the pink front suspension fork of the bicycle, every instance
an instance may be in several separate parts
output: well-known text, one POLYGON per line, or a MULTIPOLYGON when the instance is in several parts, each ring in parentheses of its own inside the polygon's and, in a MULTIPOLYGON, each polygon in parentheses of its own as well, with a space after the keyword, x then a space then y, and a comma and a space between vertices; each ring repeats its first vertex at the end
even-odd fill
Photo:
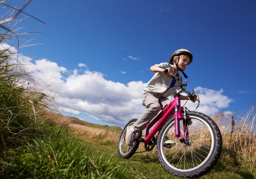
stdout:
MULTIPOLYGON (((179 95, 179 94, 177 94, 179 95)), ((190 146, 189 142, 189 130, 188 126, 191 124, 190 119, 186 119, 187 117, 187 112, 186 109, 180 106, 180 96, 177 96, 177 104, 175 105, 175 137, 180 141, 184 142, 186 145, 190 146), (184 113, 184 117, 182 115, 184 113), (180 133, 180 120, 182 120, 183 123, 183 131, 184 131, 184 136, 180 133)))

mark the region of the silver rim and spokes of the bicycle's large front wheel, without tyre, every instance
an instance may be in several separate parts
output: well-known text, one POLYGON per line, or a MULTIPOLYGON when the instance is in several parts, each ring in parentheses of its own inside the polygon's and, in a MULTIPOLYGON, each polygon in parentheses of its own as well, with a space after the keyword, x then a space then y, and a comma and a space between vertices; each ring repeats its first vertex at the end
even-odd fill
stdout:
MULTIPOLYGON (((181 143, 175 137, 175 121, 172 121, 161 137, 160 152, 164 162, 170 168, 180 172, 190 172, 204 165, 210 158, 214 146, 214 136, 210 125, 197 116, 190 115, 187 119, 192 121, 192 125, 188 127, 191 146, 181 143), (164 147, 166 139, 163 136, 168 136, 169 140, 176 144, 169 148, 164 147)), ((180 127, 183 135, 182 120, 180 121, 180 127)))

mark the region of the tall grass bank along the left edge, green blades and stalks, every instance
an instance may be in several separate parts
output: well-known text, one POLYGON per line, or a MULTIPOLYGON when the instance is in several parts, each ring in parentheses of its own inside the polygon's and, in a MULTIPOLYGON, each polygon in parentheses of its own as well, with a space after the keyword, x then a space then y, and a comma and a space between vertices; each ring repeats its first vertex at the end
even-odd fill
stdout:
MULTIPOLYGON (((9 23, 0 24, 11 27, 1 33, 1 47, 18 38, 9 23)), ((65 121, 47 108, 47 96, 15 75, 21 68, 11 50, 1 49, 0 178, 126 178, 115 160, 69 135, 65 121)))

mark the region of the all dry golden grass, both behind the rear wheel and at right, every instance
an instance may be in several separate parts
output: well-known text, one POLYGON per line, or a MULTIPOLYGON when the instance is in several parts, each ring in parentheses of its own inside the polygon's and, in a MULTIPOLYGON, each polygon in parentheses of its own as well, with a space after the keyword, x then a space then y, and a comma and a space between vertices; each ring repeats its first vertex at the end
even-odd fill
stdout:
MULTIPOLYGON (((219 126, 223 136, 223 163, 231 163, 239 167, 248 167, 252 172, 256 168, 256 115, 254 104, 245 114, 236 117, 220 114, 213 116, 213 120, 219 126), (232 123, 233 119, 233 123, 232 123)), ((71 120, 69 120, 70 122, 71 120)), ((102 128, 88 127, 79 124, 69 124, 69 131, 86 141, 109 143, 116 145, 120 132, 109 131, 102 128)), ((141 143, 137 152, 145 151, 144 144, 141 143)), ((151 152, 141 153, 150 155, 151 158, 156 153, 156 148, 151 152)))

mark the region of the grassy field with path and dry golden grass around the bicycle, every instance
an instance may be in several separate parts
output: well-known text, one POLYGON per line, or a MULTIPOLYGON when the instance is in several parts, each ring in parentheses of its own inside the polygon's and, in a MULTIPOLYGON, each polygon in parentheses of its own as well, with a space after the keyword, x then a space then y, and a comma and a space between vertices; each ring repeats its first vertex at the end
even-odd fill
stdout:
MULTIPOLYGON (((252 111, 244 114, 238 125, 233 123, 233 131, 232 119, 226 119, 229 121, 229 124, 227 124, 223 122, 225 118, 223 114, 213 117, 222 129, 222 135, 224 134, 223 153, 213 170, 201 178, 255 178, 255 137, 248 142, 244 139, 245 134, 255 136, 255 133, 250 131, 252 126, 245 126, 249 124, 249 119, 252 120, 250 122, 254 123, 255 116, 251 116, 253 114, 250 112, 252 111)), ((110 132, 103 130, 101 125, 73 124, 76 123, 74 120, 69 125, 69 131, 83 139, 93 151, 103 153, 117 161, 117 166, 123 168, 127 175, 131 176, 129 178, 178 178, 165 172, 157 159, 155 148, 150 152, 142 152, 145 149, 144 145, 140 144, 138 152, 142 153, 136 153, 130 159, 119 158, 117 142, 121 129, 110 132)))

